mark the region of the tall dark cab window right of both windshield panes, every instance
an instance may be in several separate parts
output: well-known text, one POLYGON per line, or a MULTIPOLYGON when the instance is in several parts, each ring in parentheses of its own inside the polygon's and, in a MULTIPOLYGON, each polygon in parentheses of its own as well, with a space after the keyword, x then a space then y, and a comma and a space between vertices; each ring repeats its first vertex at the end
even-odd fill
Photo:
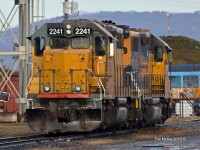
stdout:
POLYGON ((105 37, 97 36, 95 37, 95 54, 97 56, 104 56, 106 54, 105 49, 105 37))

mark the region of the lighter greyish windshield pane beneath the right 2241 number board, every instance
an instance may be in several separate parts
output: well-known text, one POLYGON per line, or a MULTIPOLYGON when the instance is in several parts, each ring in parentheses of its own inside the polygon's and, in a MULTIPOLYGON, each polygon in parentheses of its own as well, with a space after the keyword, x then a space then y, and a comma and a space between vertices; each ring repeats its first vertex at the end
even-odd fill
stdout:
POLYGON ((90 39, 87 37, 72 38, 72 48, 87 49, 90 47, 90 39))

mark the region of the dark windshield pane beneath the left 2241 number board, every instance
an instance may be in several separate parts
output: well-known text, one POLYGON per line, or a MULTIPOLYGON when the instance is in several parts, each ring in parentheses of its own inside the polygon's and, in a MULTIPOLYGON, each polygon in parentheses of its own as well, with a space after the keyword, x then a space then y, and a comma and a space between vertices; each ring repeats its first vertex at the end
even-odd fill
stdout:
POLYGON ((50 39, 50 47, 52 49, 67 48, 69 40, 66 37, 53 37, 50 39))

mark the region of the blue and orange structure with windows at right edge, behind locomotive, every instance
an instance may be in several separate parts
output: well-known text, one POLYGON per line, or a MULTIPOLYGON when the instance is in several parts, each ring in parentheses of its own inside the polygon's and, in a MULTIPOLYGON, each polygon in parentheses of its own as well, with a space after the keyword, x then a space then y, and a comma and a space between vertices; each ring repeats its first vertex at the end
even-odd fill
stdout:
POLYGON ((175 115, 200 115, 200 64, 172 65, 170 71, 175 115))

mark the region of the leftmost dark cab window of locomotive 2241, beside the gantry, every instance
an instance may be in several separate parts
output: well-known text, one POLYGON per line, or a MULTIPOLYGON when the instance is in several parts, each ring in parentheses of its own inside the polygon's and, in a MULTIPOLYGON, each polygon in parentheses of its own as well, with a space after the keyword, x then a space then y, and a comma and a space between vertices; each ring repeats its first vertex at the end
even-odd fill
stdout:
POLYGON ((45 38, 36 37, 35 38, 35 56, 42 56, 45 50, 45 38))

